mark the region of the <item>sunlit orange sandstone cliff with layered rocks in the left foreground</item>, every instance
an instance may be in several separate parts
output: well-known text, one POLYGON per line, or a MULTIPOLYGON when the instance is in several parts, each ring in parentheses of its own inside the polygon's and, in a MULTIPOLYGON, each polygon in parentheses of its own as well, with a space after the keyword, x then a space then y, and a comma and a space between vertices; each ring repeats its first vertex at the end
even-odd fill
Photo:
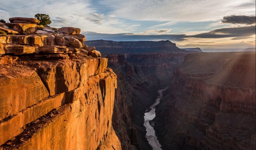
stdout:
POLYGON ((107 59, 86 55, 78 32, 33 26, 0 35, 0 149, 121 149, 107 59))

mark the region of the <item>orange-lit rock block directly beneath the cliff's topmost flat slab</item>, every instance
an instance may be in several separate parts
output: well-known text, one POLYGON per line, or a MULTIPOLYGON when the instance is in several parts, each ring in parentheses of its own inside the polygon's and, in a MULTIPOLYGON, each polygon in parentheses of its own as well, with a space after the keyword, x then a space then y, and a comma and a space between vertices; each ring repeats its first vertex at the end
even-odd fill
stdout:
POLYGON ((37 30, 37 25, 32 23, 5 23, 9 29, 19 33, 34 33, 37 30))

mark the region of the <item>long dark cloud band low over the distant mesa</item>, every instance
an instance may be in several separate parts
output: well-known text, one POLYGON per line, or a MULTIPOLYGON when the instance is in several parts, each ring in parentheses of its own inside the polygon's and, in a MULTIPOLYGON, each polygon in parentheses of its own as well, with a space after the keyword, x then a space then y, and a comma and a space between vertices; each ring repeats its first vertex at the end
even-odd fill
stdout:
POLYGON ((234 40, 246 39, 255 35, 255 25, 246 27, 219 28, 209 32, 196 35, 185 34, 162 34, 162 35, 138 35, 133 33, 103 34, 97 32, 85 32, 87 40, 113 40, 113 41, 152 41, 172 40, 184 41, 186 38, 224 38, 233 37, 234 40))

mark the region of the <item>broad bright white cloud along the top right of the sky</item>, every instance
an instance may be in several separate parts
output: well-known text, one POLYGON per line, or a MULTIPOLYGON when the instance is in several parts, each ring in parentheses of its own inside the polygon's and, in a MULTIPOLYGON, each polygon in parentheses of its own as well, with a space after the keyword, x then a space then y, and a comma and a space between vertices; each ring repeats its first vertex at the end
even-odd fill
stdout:
POLYGON ((154 21, 216 21, 232 14, 255 14, 255 5, 241 6, 252 0, 95 0, 118 18, 154 21))

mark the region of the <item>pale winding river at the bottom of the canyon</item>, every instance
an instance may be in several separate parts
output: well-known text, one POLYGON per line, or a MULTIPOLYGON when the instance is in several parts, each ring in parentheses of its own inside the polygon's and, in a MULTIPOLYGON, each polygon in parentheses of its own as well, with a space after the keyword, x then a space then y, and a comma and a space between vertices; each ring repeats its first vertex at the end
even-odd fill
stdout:
POLYGON ((158 90, 159 96, 157 96, 156 102, 150 106, 151 110, 144 114, 144 126, 146 127, 146 138, 153 150, 162 150, 161 144, 157 140, 156 132, 154 128, 150 125, 149 121, 153 120, 156 117, 156 108, 155 106, 160 103, 160 100, 163 98, 163 91, 165 91, 169 86, 164 87, 164 89, 158 90))

